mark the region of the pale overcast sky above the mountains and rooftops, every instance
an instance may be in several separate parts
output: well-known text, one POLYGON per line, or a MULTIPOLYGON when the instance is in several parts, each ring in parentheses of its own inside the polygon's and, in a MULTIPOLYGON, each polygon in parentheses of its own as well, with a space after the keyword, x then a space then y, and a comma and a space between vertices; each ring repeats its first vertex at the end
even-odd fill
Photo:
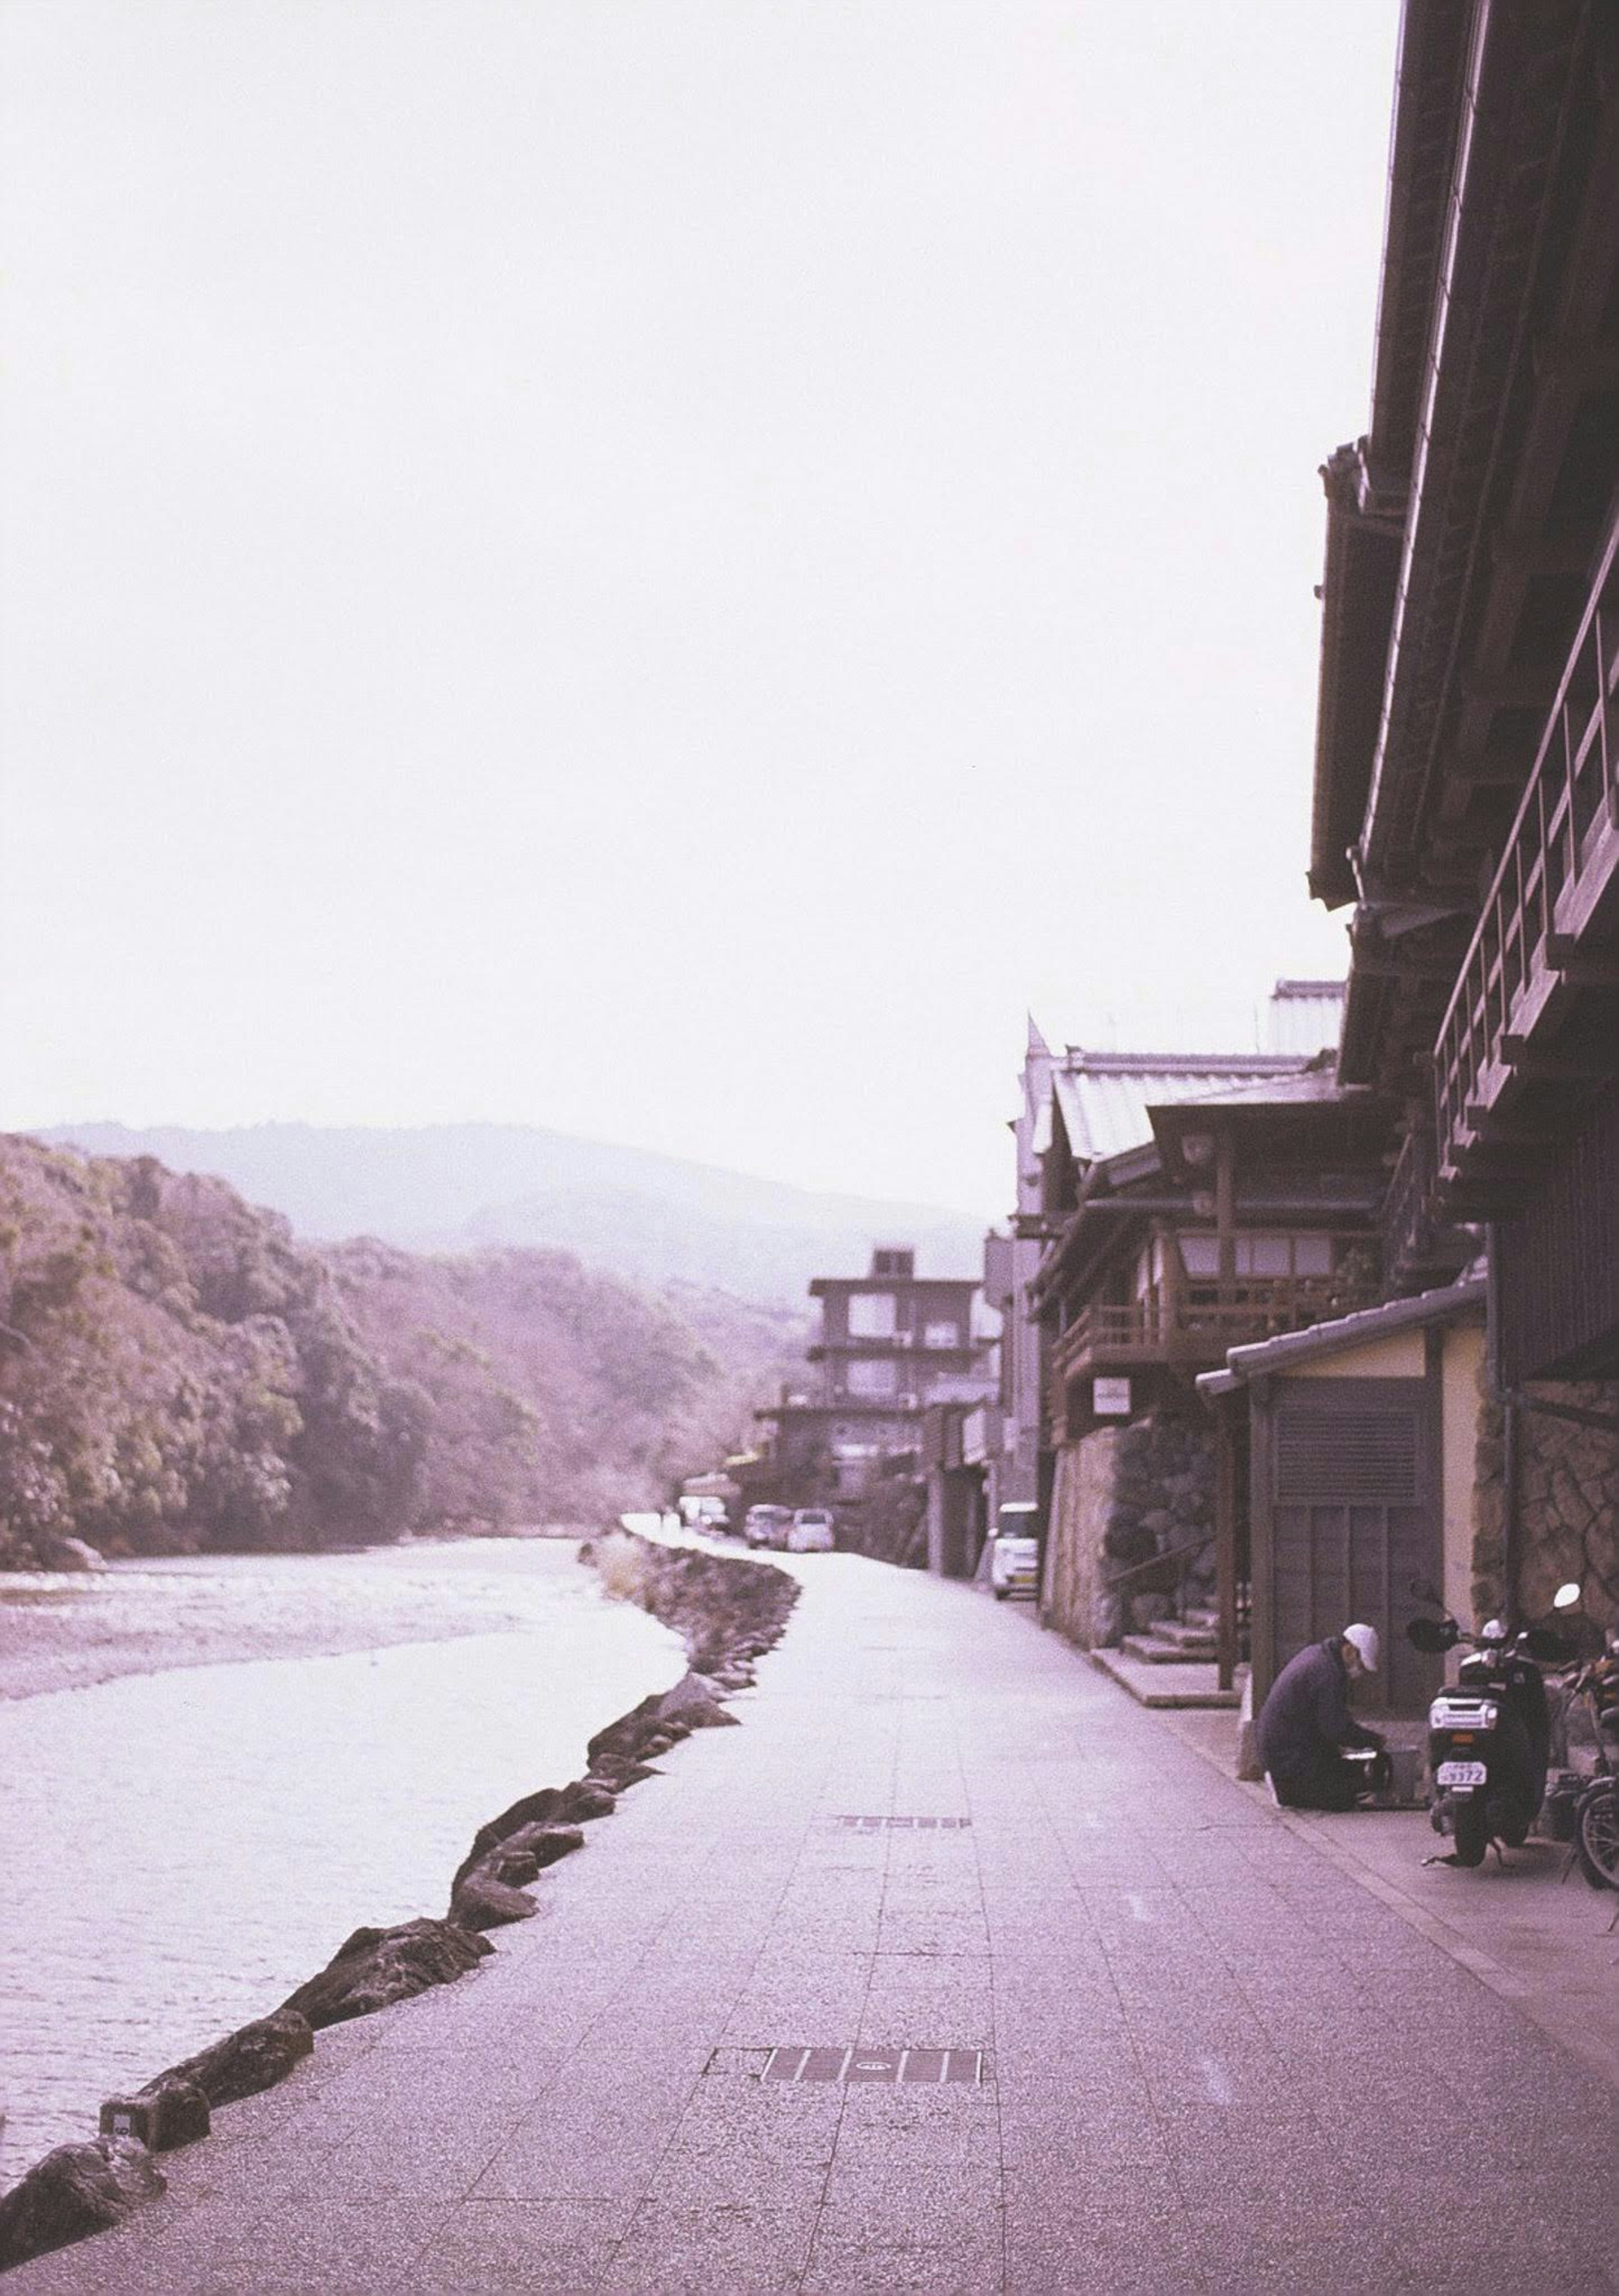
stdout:
POLYGON ((0 1120, 1006 1205, 1252 1042, 1396 0, 0 0, 0 1120))

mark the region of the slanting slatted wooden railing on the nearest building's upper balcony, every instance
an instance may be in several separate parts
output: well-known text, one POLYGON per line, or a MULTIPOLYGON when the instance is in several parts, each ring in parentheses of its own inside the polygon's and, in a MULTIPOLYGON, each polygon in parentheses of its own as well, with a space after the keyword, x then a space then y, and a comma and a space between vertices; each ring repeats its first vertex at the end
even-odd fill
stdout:
POLYGON ((1465 1164, 1523 1070, 1619 866, 1619 514, 1608 535, 1529 785, 1435 1045, 1438 1178, 1465 1164))

